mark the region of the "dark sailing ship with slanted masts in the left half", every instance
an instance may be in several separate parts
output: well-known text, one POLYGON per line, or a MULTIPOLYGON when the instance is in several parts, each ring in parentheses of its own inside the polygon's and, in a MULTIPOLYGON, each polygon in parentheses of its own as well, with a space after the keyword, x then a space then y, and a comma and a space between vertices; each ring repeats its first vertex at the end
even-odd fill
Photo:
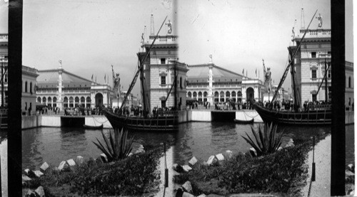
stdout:
MULTIPOLYGON (((167 16, 166 16, 167 18, 167 16)), ((161 27, 156 34, 154 41, 151 43, 151 46, 149 49, 146 49, 146 52, 143 53, 138 53, 138 70, 136 71, 136 74, 134 75, 134 79, 132 80, 131 84, 129 85, 129 89, 126 92, 126 95, 124 96, 124 100, 121 103, 121 107, 117 112, 110 112, 107 110, 104 110, 104 115, 106 118, 109 120, 111 123, 111 126, 114 129, 121 129, 121 128, 126 128, 129 129, 129 131, 139 131, 139 132, 174 132, 178 130, 178 113, 176 111, 176 99, 175 100, 175 107, 174 110, 161 110, 160 108, 156 107, 156 110, 151 114, 151 108, 149 104, 149 99, 148 95, 146 94, 146 85, 145 85, 145 78, 144 78, 144 64, 147 63, 150 50, 154 46, 154 43, 156 41, 156 38, 159 37, 159 32, 164 25, 166 18, 164 22, 161 24, 161 27), (139 77, 140 74, 140 80, 141 80, 141 98, 142 98, 142 113, 141 115, 137 116, 129 116, 126 115, 125 113, 125 107, 124 105, 126 104, 126 101, 128 100, 128 96, 131 93, 131 90, 133 89, 137 78, 139 77)), ((144 41, 143 41, 144 45, 144 41)), ((174 70, 174 83, 171 85, 171 89, 169 90, 169 93, 166 97, 166 100, 168 99, 169 95, 171 94, 171 91, 173 90, 176 92, 176 81, 177 81, 177 75, 176 75, 176 62, 175 62, 175 70, 174 70)), ((120 85, 119 85, 120 86, 120 85)), ((176 95, 176 94, 174 94, 176 95)))

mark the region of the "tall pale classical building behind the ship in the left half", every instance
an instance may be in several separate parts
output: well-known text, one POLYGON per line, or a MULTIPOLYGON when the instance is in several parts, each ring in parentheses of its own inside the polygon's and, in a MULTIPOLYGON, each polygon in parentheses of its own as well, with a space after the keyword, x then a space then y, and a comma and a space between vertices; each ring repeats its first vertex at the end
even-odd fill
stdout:
MULTIPOLYGON (((154 38, 155 36, 151 35, 149 41, 144 43, 146 51, 149 50, 154 38)), ((178 36, 170 33, 159 36, 144 63, 144 82, 141 83, 141 87, 145 88, 147 98, 143 98, 142 102, 146 102, 150 110, 154 107, 186 105, 185 79, 188 69, 185 63, 178 62, 177 39, 178 36)), ((139 60, 143 60, 145 55, 146 52, 138 53, 139 60)))

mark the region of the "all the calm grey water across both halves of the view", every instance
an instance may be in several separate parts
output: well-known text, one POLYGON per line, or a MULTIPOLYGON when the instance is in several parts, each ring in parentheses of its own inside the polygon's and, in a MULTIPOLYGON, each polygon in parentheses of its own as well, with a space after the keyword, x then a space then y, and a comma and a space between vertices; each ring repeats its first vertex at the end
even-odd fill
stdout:
MULTIPOLYGON (((257 124, 254 124, 256 127, 257 124)), ((104 129, 105 132, 109 129, 104 129)), ((286 137, 285 144, 290 138, 298 136, 321 134, 330 132, 330 128, 303 129, 280 127, 286 137)), ((229 122, 189 122, 180 124, 178 133, 134 133, 135 142, 140 144, 159 144, 167 140, 175 140, 174 149, 175 163, 186 164, 192 156, 207 160, 209 156, 224 153, 226 150, 233 152, 246 152, 251 147, 241 137, 251 134, 249 125, 234 124, 229 122)), ((346 127, 346 164, 354 163, 354 128, 353 125, 346 127)), ((23 169, 39 169, 46 161, 58 166, 65 159, 75 159, 76 156, 96 158, 101 151, 96 148, 92 141, 96 137, 103 142, 99 130, 86 130, 78 128, 36 128, 22 131, 22 159, 23 169)))

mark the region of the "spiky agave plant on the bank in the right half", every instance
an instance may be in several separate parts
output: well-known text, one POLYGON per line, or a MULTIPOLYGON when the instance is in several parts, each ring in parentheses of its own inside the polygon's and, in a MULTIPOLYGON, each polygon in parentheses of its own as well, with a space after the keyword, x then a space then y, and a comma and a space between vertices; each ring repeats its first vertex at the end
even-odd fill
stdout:
POLYGON ((277 128, 277 124, 273 125, 273 123, 271 123, 269 126, 268 123, 266 123, 264 124, 263 131, 262 127, 258 126, 258 132, 256 132, 256 129, 251 126, 251 132, 254 135, 255 142, 247 133, 246 135, 248 138, 242 137, 246 139, 248 144, 251 144, 251 146, 256 149, 256 156, 271 154, 281 146, 281 138, 283 137, 283 134, 276 134, 277 128))

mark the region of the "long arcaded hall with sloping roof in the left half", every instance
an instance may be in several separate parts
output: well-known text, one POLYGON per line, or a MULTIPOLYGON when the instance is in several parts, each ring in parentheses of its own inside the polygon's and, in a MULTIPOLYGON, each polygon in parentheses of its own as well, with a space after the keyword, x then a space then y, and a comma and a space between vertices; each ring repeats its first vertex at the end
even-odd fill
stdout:
POLYGON ((49 107, 111 107, 114 93, 109 84, 99 84, 58 69, 39 70, 36 84, 36 104, 49 107))

